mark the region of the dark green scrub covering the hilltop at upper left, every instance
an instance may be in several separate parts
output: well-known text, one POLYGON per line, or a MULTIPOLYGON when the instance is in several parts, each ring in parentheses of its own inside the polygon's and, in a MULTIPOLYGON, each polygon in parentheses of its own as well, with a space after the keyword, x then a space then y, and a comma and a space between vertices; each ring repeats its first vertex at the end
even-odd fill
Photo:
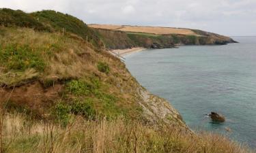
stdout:
POLYGON ((0 10, 0 25, 5 27, 27 27, 37 31, 74 33, 94 47, 101 47, 98 35, 78 18, 52 10, 44 10, 27 14, 20 10, 3 8, 0 10))

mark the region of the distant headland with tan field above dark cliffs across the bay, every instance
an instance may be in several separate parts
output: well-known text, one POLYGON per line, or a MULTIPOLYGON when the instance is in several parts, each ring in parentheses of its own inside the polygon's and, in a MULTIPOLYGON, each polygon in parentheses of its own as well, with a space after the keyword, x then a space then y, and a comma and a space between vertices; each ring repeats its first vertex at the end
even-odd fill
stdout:
POLYGON ((124 49, 120 42, 126 43, 127 48, 173 48, 184 45, 224 45, 235 43, 230 37, 194 29, 169 27, 119 26, 109 24, 89 24, 99 33, 102 41, 109 49, 124 49), (122 35, 122 36, 121 36, 122 35), (121 41, 115 41, 115 38, 121 41), (114 41, 111 41, 113 40, 114 41), (110 42, 111 41, 111 42, 110 42))

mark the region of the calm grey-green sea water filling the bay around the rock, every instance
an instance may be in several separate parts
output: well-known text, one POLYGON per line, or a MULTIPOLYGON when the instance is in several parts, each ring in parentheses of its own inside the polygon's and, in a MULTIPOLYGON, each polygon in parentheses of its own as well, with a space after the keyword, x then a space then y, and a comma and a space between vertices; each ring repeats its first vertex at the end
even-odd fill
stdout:
POLYGON ((233 39, 240 43, 144 50, 127 55, 126 66, 142 86, 171 101, 191 129, 256 148, 256 37, 233 39), (213 124, 210 112, 226 122, 213 124))

